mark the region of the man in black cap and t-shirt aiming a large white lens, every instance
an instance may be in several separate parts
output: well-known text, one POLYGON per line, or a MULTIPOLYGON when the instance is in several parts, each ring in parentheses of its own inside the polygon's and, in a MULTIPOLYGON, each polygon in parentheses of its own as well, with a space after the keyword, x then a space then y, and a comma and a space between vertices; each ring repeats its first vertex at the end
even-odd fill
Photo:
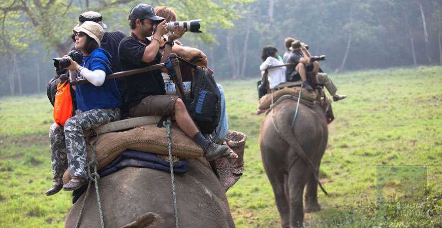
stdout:
MULTIPOLYGON (((129 20, 131 34, 120 42, 118 48, 123 70, 143 68, 166 61, 172 52, 174 40, 185 32, 185 29, 179 26, 174 27, 173 33, 168 36, 162 56, 159 52, 160 39, 168 33, 164 18, 156 16, 152 6, 139 4, 132 8, 129 20), (147 37, 151 35, 152 39, 149 41, 147 37)), ((128 90, 123 102, 129 108, 130 116, 174 116, 181 130, 201 146, 207 160, 237 157, 227 145, 217 145, 201 134, 188 115, 181 98, 166 95, 160 70, 134 74, 125 77, 124 80, 128 90)))

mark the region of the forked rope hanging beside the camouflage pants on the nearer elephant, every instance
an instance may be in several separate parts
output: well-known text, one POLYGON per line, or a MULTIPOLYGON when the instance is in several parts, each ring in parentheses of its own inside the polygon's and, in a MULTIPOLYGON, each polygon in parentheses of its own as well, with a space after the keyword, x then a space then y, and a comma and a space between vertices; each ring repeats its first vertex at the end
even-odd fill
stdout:
POLYGON ((95 143, 98 140, 98 134, 96 132, 94 132, 93 130, 91 130, 91 132, 92 132, 92 134, 95 135, 95 137, 93 137, 93 139, 89 142, 90 147, 92 148, 91 161, 87 164, 87 173, 89 175, 89 181, 87 183, 86 195, 84 195, 83 205, 81 206, 80 213, 78 214, 78 220, 75 225, 76 228, 80 227, 81 215, 84 210, 84 205, 86 205, 87 197, 89 196, 89 189, 90 189, 90 185, 91 185, 92 181, 95 183, 95 193, 97 194, 97 203, 98 203, 98 211, 100 212, 101 227, 104 228, 103 211, 101 209, 100 192, 99 192, 99 188, 98 188, 98 180, 100 179, 100 175, 97 172, 98 161, 97 161, 97 158, 95 157, 95 143), (93 166, 93 173, 90 172, 91 166, 93 166))

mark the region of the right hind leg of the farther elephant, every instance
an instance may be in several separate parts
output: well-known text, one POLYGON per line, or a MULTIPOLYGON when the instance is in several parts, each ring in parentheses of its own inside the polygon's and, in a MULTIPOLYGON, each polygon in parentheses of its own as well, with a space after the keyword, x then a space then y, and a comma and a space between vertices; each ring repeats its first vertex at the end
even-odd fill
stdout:
POLYGON ((289 172, 289 191, 290 191, 290 224, 291 227, 302 227, 304 220, 304 211, 302 196, 304 186, 310 177, 310 167, 301 159, 298 159, 289 172))

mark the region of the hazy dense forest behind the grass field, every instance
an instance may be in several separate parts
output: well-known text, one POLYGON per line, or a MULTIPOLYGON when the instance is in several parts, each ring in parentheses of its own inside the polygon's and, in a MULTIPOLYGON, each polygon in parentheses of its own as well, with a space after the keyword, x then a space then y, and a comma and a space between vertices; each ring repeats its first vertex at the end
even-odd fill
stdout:
MULTIPOLYGON (((129 34, 131 0, 3 0, 0 2, 0 96, 45 91, 52 58, 72 45, 84 11, 98 11, 109 31, 129 34)), ((295 37, 328 72, 442 65, 442 3, 438 0, 165 0, 179 20, 203 19, 204 33, 187 33, 184 45, 206 53, 222 80, 259 75, 261 51, 285 52, 295 37)))

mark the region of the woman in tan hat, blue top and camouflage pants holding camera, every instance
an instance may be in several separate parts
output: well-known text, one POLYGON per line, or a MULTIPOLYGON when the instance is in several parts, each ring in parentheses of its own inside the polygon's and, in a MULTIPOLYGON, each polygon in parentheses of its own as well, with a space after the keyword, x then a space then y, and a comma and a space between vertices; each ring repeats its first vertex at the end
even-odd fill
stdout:
POLYGON ((100 48, 103 28, 93 21, 85 21, 74 28, 75 49, 83 54, 82 63, 70 60, 66 69, 71 81, 86 79, 88 84, 75 86, 78 110, 63 126, 53 124, 50 128, 53 185, 47 196, 56 194, 61 188, 74 191, 86 184, 86 143, 83 132, 120 119, 121 98, 115 79, 106 80, 112 73, 110 54, 100 48), (71 181, 62 185, 62 176, 68 168, 71 181))

